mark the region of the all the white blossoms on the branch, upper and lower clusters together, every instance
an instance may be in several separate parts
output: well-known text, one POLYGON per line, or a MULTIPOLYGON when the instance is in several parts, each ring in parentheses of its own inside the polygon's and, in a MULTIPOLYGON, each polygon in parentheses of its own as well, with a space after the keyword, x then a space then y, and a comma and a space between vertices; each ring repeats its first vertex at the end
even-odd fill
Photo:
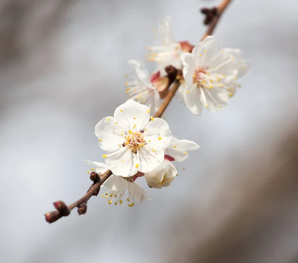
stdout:
POLYGON ((131 76, 133 80, 126 82, 130 99, 115 110, 114 117, 103 118, 95 126, 99 146, 106 151, 102 156, 105 164, 86 162, 94 165, 96 168, 92 169, 97 173, 112 171, 103 184, 108 190, 102 196, 109 204, 121 204, 126 190, 129 206, 134 206, 135 200, 149 200, 135 181, 144 177, 150 188, 169 186, 177 176, 172 161, 182 162, 188 157, 188 150, 199 148, 193 141, 175 138, 166 121, 151 116, 171 83, 180 83, 178 96, 191 113, 200 115, 203 107, 216 112, 227 106, 240 87, 237 79, 250 69, 240 50, 220 50, 213 36, 193 46, 175 40, 170 17, 162 19, 159 28, 162 43, 148 47, 147 55, 149 61, 156 63, 156 69, 149 74, 142 61, 130 60, 129 65, 136 72, 136 77, 131 76), (175 69, 175 79, 170 79, 168 66, 175 69))

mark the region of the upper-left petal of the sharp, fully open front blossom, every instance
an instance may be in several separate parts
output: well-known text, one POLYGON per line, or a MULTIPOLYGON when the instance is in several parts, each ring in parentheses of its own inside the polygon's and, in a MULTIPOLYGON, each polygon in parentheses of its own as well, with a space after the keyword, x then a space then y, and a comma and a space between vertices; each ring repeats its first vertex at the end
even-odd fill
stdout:
POLYGON ((105 151, 116 151, 125 138, 121 135, 122 127, 114 117, 105 117, 95 126, 95 135, 99 138, 99 146, 105 151))

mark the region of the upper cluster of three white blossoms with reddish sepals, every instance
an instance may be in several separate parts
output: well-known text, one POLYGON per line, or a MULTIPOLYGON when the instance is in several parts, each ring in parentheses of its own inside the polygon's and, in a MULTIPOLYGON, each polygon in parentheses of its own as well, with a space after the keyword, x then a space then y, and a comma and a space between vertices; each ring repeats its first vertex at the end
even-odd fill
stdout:
POLYGON ((161 45, 148 47, 147 59, 156 63, 152 75, 142 61, 129 61, 137 74, 134 81, 126 82, 130 98, 156 111, 170 88, 165 67, 171 65, 183 70, 183 76, 177 77, 177 93, 194 115, 201 115, 203 107, 216 112, 227 106, 240 87, 237 80, 250 69, 243 53, 238 49, 220 50, 213 36, 196 46, 188 41, 177 42, 170 17, 160 21, 159 29, 161 45))

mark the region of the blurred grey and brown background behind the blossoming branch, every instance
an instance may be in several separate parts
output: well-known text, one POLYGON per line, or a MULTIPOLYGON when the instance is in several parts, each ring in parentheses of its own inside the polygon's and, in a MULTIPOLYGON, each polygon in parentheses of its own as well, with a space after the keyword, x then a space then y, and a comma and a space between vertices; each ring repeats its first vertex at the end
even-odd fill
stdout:
POLYGON ((85 215, 44 220, 90 186, 83 160, 103 154, 94 126, 127 99, 127 61, 144 58, 159 19, 195 44, 198 9, 218 2, 0 1, 0 262, 298 262, 296 0, 226 10, 214 35, 252 71, 218 113, 171 102, 172 133, 201 148, 170 187, 134 208, 98 196, 85 215))

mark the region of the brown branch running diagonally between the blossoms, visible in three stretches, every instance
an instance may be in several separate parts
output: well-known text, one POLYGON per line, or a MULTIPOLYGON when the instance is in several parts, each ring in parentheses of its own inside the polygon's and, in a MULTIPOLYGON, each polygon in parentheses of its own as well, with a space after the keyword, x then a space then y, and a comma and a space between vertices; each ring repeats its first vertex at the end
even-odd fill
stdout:
MULTIPOLYGON (((222 13, 224 12, 225 8, 227 7, 227 5, 230 3, 231 0, 223 0, 217 7, 215 7, 214 10, 212 10, 213 13, 216 14, 216 16, 213 17, 205 35, 203 36, 202 40, 203 41, 207 36, 211 35, 213 33, 213 30, 215 29, 220 16, 222 15, 222 13)), ((204 12, 203 12, 204 13, 204 12)), ((169 103, 171 102, 171 100, 173 99, 176 91, 178 90, 179 86, 180 86, 180 77, 182 76, 182 71, 176 69, 173 66, 167 66, 165 68, 166 72, 167 72, 167 77, 168 77, 168 84, 166 89, 168 90, 163 103, 161 104, 161 106, 159 107, 159 109, 157 110, 157 112, 154 114, 154 118, 160 118, 162 116, 162 114, 164 113, 164 111, 166 110, 167 106, 169 105, 169 103), (169 89, 171 87, 171 89, 169 89)), ((77 207, 77 212, 78 214, 84 214, 87 211, 87 201, 92 197, 92 196, 97 196, 100 190, 101 185, 112 175, 112 171, 107 170, 105 173, 103 174, 97 174, 95 172, 92 172, 90 174, 90 180, 93 181, 93 184, 91 185, 91 187, 89 188, 89 190, 87 191, 87 193, 79 198, 78 200, 76 200, 75 202, 73 202, 70 205, 66 205, 63 201, 56 201, 54 202, 54 206, 57 210, 55 211, 51 211, 51 212, 47 212, 45 213, 45 219, 47 222, 49 223, 53 223, 55 221, 57 221, 58 219, 60 219, 63 216, 68 216, 71 211, 77 207)))

